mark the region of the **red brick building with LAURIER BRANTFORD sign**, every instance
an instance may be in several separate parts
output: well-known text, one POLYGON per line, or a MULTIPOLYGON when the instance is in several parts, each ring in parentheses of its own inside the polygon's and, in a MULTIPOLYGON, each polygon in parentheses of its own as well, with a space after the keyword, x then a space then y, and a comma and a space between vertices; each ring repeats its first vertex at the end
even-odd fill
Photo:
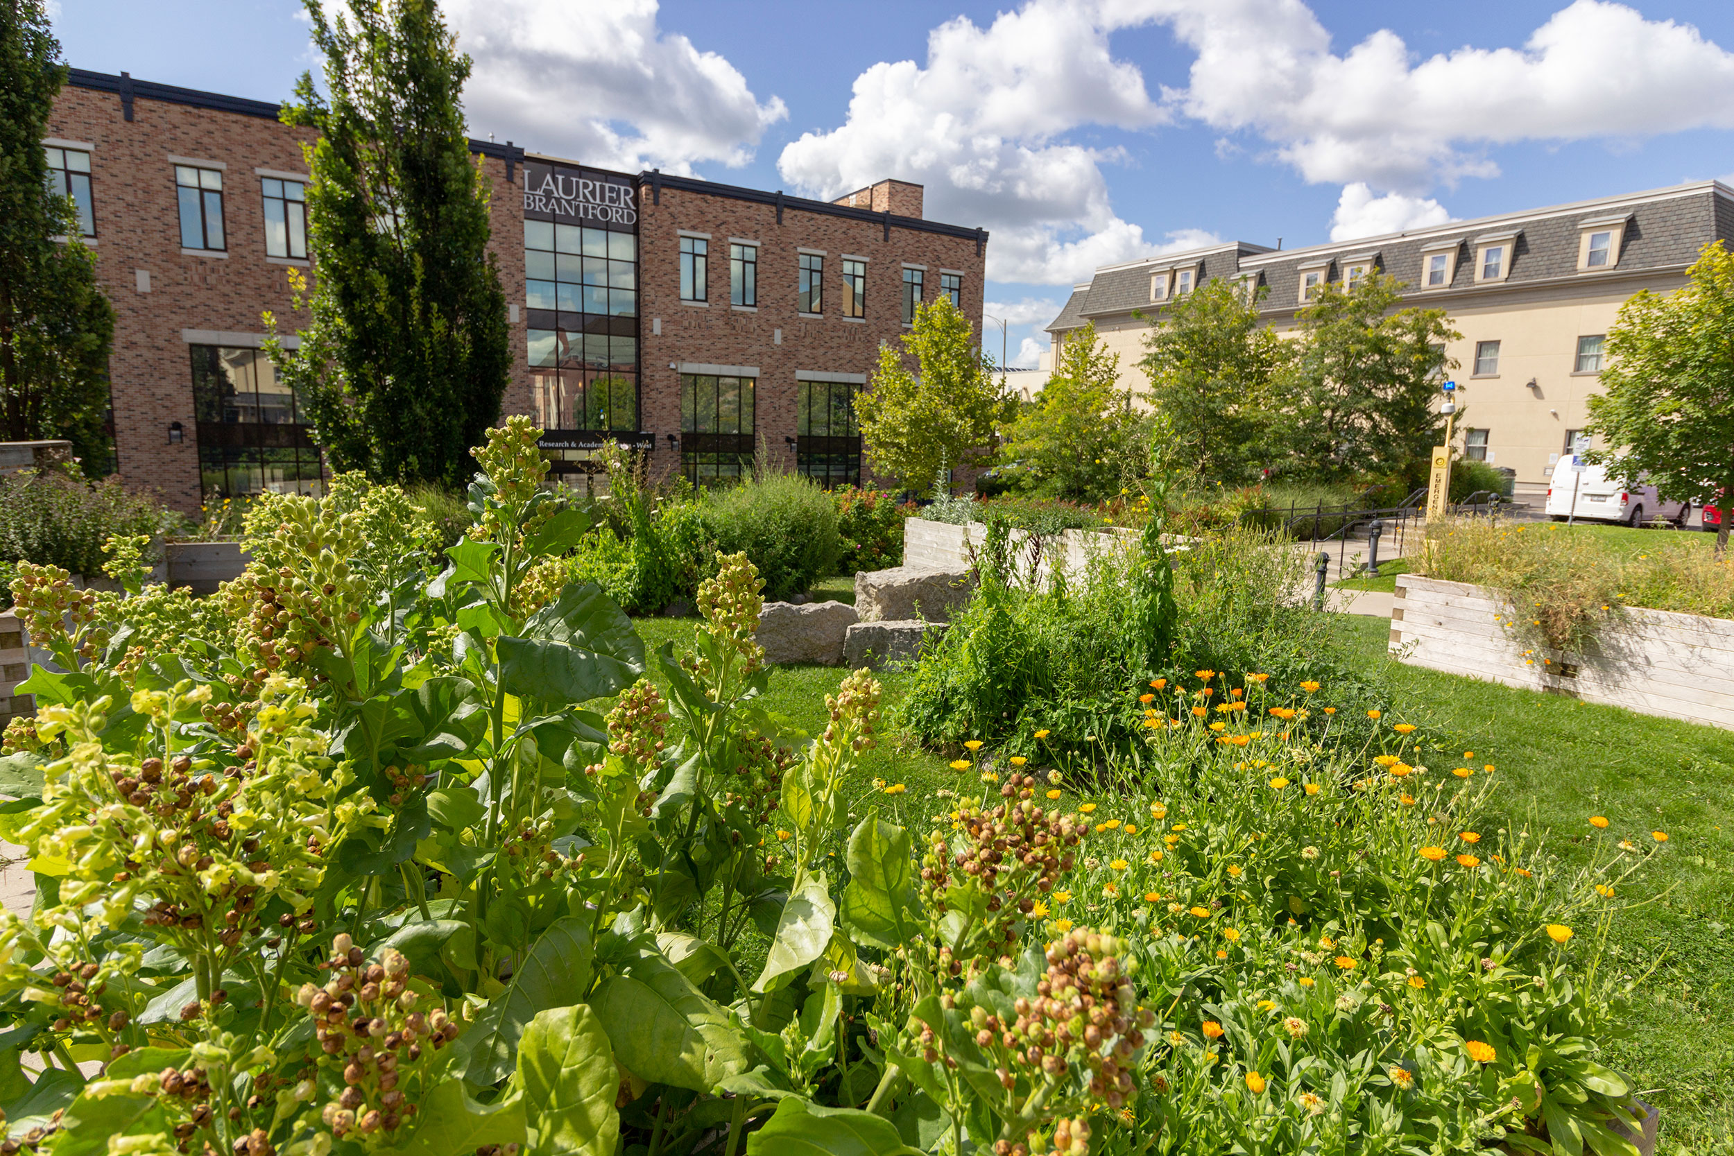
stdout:
MULTIPOLYGON (((314 490, 323 463, 262 354, 264 314, 305 324, 309 130, 262 101, 73 69, 50 168, 114 303, 121 478, 205 494, 314 490)), ((914 303, 980 324, 987 232, 921 217, 921 185, 836 203, 659 172, 616 173, 472 140, 515 354, 503 407, 546 430, 557 473, 607 440, 654 473, 728 478, 772 459, 860 478, 853 395, 914 303)), ((293 347, 293 338, 286 341, 293 347)))

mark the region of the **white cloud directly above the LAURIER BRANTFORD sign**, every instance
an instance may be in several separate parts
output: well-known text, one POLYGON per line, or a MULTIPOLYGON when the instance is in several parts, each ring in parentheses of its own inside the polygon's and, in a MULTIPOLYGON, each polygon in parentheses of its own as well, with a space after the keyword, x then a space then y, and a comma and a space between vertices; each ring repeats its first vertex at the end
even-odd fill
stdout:
POLYGON ((607 168, 744 165, 782 99, 657 26, 657 0, 447 0, 470 132, 607 168))

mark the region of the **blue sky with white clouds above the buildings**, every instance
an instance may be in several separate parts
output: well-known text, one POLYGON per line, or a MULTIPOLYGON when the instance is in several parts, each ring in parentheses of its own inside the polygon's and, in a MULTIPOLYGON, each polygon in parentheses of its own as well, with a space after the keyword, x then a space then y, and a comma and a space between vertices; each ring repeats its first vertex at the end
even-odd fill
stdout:
MULTIPOLYGON (((994 231, 1013 360, 1098 263, 1734 175, 1734 3, 446 0, 472 132, 994 231)), ((61 0, 78 68, 281 99, 293 0, 61 0)), ((997 341, 988 340, 994 348, 997 341)))

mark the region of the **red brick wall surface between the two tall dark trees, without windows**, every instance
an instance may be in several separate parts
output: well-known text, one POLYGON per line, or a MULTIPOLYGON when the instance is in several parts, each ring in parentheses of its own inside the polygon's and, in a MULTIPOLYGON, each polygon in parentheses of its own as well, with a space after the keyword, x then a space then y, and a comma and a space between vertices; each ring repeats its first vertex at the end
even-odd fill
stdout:
POLYGON ((114 303, 114 440, 121 480, 158 490, 184 511, 199 508, 199 451, 192 418, 192 369, 182 329, 262 333, 262 310, 284 331, 305 324, 290 308, 288 269, 265 260, 260 179, 255 168, 307 172, 300 144, 310 132, 260 116, 239 116, 139 97, 134 120, 120 97, 68 85, 54 104, 49 135, 90 149, 97 279, 114 303), (180 251, 175 163, 220 161, 227 257, 180 251), (139 291, 139 270, 149 293, 139 291), (168 425, 186 432, 168 442, 168 425))

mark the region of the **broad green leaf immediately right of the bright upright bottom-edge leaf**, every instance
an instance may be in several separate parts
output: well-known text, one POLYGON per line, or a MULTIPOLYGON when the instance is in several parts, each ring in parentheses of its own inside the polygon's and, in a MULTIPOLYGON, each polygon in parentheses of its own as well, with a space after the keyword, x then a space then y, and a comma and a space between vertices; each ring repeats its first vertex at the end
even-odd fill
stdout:
POLYGON ((661 955, 643 953, 628 974, 603 979, 590 1005, 614 1057, 642 1080, 709 1092, 749 1066, 728 1012, 661 955))

